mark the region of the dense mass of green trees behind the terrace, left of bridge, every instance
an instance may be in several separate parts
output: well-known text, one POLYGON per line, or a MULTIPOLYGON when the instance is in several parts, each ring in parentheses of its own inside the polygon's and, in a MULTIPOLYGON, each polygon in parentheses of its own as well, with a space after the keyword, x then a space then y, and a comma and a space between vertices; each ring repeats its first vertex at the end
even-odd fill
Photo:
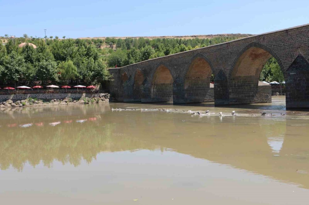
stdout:
POLYGON ((0 44, 0 81, 12 84, 17 81, 61 82, 81 79, 85 83, 108 80, 110 74, 92 42, 82 39, 47 40, 34 38, 19 48, 26 38, 9 39, 0 44))

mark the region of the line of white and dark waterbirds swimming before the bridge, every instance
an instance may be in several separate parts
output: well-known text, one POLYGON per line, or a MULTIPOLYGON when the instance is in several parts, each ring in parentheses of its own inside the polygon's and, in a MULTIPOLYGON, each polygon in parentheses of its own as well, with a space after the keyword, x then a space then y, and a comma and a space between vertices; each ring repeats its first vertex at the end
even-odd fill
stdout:
MULTIPOLYGON (((178 109, 163 109, 163 108, 124 108, 124 109, 121 109, 121 108, 113 108, 112 107, 112 111, 136 111, 136 110, 140 110, 141 112, 142 111, 166 111, 166 112, 172 112, 172 111, 178 111, 178 109)), ((206 110, 206 111, 192 111, 192 110, 182 110, 182 112, 187 112, 189 114, 192 114, 192 115, 219 115, 219 116, 227 116, 226 114, 223 114, 222 112, 219 112, 219 113, 210 113, 210 110, 206 110)), ((266 113, 266 112, 260 112, 261 116, 277 116, 278 114, 273 114, 273 113, 266 113)), ((231 116, 237 116, 237 114, 235 113, 235 111, 232 111, 231 114, 228 114, 228 115, 231 115, 231 116)), ((259 114, 258 114, 259 115, 259 114)), ((256 116, 256 114, 252 114, 252 113, 249 113, 249 116, 256 116)), ((286 114, 282 114, 280 113, 280 115, 278 116, 281 116, 281 117, 284 117, 286 116, 286 114)))

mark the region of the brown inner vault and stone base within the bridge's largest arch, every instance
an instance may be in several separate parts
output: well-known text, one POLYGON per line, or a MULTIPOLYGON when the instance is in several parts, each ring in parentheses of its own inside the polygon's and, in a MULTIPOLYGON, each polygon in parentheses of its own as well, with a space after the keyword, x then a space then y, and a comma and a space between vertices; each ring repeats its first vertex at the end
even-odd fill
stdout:
POLYGON ((259 82, 261 71, 272 55, 259 47, 250 47, 238 58, 231 73, 231 104, 271 102, 271 86, 259 82))

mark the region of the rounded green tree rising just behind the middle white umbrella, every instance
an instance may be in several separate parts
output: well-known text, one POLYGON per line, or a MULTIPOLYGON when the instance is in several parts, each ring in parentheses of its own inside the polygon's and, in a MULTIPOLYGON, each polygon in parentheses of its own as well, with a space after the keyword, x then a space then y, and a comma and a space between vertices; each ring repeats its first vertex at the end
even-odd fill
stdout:
POLYGON ((58 80, 57 63, 52 60, 42 60, 38 63, 36 77, 44 82, 58 80))

